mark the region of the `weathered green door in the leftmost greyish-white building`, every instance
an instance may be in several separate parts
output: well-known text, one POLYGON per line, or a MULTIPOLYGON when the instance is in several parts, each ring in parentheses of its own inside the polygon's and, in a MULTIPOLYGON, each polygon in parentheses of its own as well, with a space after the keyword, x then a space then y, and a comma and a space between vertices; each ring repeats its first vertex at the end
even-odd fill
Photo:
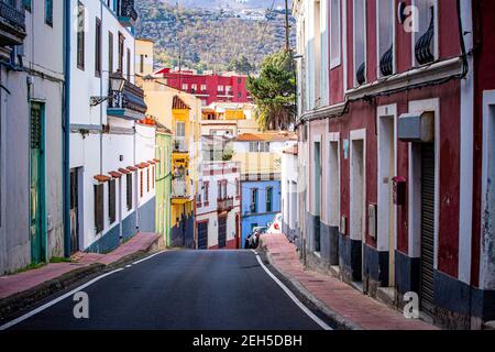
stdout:
POLYGON ((45 235, 45 135, 44 106, 31 102, 31 155, 30 155, 30 239, 31 261, 38 264, 46 261, 45 235))

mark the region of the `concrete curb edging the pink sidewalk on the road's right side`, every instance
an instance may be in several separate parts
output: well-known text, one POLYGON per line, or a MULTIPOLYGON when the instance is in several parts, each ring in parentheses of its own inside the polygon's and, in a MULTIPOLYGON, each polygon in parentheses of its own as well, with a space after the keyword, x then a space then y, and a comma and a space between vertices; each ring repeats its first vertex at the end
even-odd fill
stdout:
POLYGON ((297 279, 280 272, 275 264, 273 264, 273 257, 270 254, 266 245, 263 241, 260 243, 258 251, 263 254, 270 263, 270 270, 277 276, 305 305, 308 302, 314 307, 311 310, 316 310, 315 314, 324 317, 329 324, 336 330, 363 330, 362 327, 353 321, 340 316, 331 310, 326 304, 319 300, 314 294, 311 294, 306 287, 304 287, 297 279))

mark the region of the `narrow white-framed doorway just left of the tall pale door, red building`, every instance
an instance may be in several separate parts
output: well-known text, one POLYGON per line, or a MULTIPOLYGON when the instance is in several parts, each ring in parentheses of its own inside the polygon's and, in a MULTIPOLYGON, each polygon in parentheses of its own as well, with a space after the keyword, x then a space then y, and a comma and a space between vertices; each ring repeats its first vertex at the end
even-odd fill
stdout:
MULTIPOLYGON (((361 241, 361 255, 351 257, 354 282, 363 280, 365 237, 365 168, 364 139, 352 140, 351 143, 351 241, 361 241)), ((352 255, 352 254, 351 254, 352 255)))

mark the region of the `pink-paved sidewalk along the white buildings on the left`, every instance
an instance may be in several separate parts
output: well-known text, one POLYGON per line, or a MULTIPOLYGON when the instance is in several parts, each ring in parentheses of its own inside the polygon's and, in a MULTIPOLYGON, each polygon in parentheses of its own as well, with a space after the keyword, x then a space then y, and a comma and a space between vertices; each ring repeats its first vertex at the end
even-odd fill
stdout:
POLYGON ((19 300, 32 302, 84 276, 148 252, 158 238, 155 233, 139 233, 109 254, 78 252, 70 263, 51 263, 20 274, 0 276, 0 319, 2 309, 15 310, 12 308, 22 305, 19 300))

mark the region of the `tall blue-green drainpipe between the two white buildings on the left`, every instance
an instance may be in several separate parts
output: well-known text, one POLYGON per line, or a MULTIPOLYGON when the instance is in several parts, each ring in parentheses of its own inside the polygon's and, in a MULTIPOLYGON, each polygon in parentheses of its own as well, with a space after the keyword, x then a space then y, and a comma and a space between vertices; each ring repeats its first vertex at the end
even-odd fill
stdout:
POLYGON ((70 257, 70 0, 64 1, 64 124, 63 124, 63 195, 64 255, 70 257))

